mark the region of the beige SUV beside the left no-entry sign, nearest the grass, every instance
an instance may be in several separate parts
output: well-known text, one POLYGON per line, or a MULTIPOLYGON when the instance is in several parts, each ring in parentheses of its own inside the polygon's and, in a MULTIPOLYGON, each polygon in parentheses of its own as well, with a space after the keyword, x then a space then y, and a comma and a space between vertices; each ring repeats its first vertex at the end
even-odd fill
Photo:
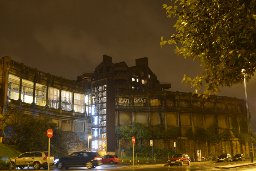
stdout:
MULTIPOLYGON (((19 155, 18 157, 10 158, 7 161, 7 167, 9 167, 9 163, 11 162, 11 169, 14 169, 15 160, 16 160, 16 167, 19 167, 20 169, 27 167, 28 162, 30 166, 34 167, 34 169, 40 169, 41 167, 45 168, 48 165, 47 155, 43 151, 25 152, 19 155)), ((50 163, 53 161, 54 161, 54 156, 50 157, 50 163)))

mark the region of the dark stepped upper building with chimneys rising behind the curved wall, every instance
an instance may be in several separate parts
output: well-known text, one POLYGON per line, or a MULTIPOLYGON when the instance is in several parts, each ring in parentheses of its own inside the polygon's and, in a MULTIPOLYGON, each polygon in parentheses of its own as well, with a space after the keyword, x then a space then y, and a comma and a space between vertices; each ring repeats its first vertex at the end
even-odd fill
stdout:
POLYGON ((103 61, 93 72, 83 72, 78 81, 93 82, 105 78, 115 80, 115 88, 134 91, 164 91, 171 88, 171 83, 161 83, 148 67, 148 58, 135 60, 135 66, 128 67, 123 62, 112 63, 112 57, 103 55, 103 61))

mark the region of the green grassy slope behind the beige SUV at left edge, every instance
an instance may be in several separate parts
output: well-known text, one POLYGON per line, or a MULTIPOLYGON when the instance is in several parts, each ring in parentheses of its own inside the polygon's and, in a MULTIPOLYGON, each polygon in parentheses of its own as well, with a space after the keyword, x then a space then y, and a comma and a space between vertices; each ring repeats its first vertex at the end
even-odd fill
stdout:
MULTIPOLYGON (((0 156, 7 156, 8 158, 17 157, 22 154, 22 152, 16 148, 17 146, 14 145, 0 143, 0 156)), ((0 169, 8 169, 8 167, 6 167, 6 162, 7 161, 0 160, 0 169)))

